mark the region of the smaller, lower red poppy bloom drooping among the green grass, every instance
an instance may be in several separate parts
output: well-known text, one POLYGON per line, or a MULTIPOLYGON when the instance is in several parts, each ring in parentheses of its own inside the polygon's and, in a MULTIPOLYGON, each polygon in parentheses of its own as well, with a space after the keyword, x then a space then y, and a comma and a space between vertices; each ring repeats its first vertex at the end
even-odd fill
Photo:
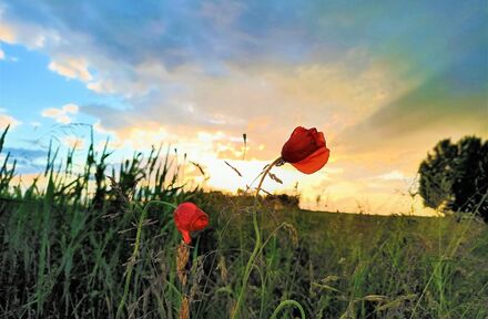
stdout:
POLYGON ((202 230, 209 226, 209 215, 193 203, 180 204, 174 209, 173 217, 177 230, 183 235, 183 240, 187 245, 192 243, 190 231, 202 230))

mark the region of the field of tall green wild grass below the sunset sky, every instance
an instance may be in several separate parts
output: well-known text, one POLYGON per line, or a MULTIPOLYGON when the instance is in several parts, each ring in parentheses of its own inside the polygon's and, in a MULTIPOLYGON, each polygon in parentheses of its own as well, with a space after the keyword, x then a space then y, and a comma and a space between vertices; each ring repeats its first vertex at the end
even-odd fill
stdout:
POLYGON ((164 152, 111 171, 91 146, 81 172, 55 153, 45 186, 27 188, 2 153, 1 318, 181 318, 184 296, 190 318, 488 318, 488 228, 474 215, 307 212, 183 187, 164 152), (161 202, 210 215, 184 287, 161 202))

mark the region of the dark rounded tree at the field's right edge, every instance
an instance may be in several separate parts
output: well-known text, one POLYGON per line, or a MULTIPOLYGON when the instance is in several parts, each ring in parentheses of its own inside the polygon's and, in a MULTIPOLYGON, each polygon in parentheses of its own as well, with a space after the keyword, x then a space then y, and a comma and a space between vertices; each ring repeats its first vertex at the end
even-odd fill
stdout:
POLYGON ((477 213, 488 223, 488 141, 443 140, 418 168, 424 204, 444 212, 477 213))

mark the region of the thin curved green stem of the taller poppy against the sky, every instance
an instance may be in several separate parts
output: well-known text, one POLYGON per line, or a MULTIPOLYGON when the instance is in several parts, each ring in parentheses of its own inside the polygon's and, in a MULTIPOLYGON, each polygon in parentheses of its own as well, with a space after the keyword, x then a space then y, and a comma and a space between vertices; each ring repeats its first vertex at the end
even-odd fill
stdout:
POLYGON ((252 268, 254 265, 254 259, 256 259, 256 256, 258 255, 260 249, 261 249, 261 230, 260 230, 260 226, 257 225, 257 215, 256 215, 256 208, 257 208, 256 204, 257 204, 257 198, 260 195, 261 186, 263 185, 264 178, 270 173, 271 168, 273 168, 273 166, 275 166, 281 161, 282 161, 282 157, 278 157, 266 167, 266 169, 263 173, 263 176, 261 177, 260 184, 257 185, 256 197, 255 197, 255 202, 254 202, 255 207, 253 209, 253 226, 254 226, 254 235, 256 236, 256 240, 254 244, 253 253, 251 254, 250 260, 247 260, 247 265, 244 270, 244 276, 243 276, 242 284, 241 284, 241 291, 238 294, 237 302, 235 303, 234 310, 232 311, 232 317, 231 317, 232 319, 237 318, 238 312, 241 311, 241 305, 244 300, 244 295, 245 295, 247 281, 250 280, 251 271, 252 271, 252 268))

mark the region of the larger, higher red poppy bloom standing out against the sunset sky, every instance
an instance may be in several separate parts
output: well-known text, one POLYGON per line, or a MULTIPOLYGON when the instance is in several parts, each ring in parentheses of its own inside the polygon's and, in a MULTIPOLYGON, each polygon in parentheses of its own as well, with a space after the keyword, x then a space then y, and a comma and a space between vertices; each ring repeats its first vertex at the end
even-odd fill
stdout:
POLYGON ((299 172, 312 174, 324 167, 329 153, 324 133, 317 132, 315 127, 307 130, 298 126, 283 145, 282 158, 299 172))

